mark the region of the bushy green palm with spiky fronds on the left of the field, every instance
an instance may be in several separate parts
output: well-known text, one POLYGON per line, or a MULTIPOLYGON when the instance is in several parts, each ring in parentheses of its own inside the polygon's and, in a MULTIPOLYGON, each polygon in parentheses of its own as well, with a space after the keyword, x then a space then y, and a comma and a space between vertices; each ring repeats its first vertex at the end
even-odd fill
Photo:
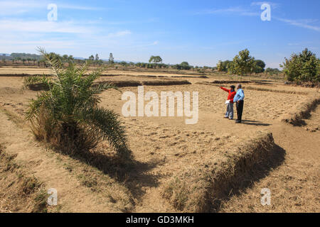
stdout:
POLYGON ((100 103, 102 92, 115 88, 110 84, 94 84, 101 70, 90 74, 87 65, 63 67, 60 58, 39 48, 54 77, 42 79, 49 88, 31 100, 26 119, 38 140, 46 140, 68 153, 95 148, 107 140, 119 154, 129 154, 124 126, 114 111, 100 103))

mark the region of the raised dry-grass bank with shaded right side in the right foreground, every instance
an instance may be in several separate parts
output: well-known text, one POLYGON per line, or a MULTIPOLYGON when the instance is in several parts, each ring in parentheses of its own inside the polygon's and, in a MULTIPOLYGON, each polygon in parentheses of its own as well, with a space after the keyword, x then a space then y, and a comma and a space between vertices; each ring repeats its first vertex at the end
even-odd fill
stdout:
POLYGON ((163 196, 184 212, 218 211, 222 199, 257 177, 257 168, 265 173, 271 165, 279 165, 284 154, 278 151, 272 134, 260 133, 238 148, 218 153, 214 158, 219 161, 213 165, 175 175, 164 187, 163 196))

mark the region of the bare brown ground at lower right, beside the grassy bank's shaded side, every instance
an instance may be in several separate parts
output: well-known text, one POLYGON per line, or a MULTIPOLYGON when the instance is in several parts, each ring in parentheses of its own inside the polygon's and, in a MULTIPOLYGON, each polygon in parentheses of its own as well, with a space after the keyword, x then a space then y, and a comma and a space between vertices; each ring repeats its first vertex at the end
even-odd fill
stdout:
POLYGON ((270 130, 275 143, 286 151, 284 163, 250 189, 231 197, 223 204, 221 212, 320 211, 320 133, 284 123, 270 130), (263 188, 271 191, 270 206, 260 203, 263 188))

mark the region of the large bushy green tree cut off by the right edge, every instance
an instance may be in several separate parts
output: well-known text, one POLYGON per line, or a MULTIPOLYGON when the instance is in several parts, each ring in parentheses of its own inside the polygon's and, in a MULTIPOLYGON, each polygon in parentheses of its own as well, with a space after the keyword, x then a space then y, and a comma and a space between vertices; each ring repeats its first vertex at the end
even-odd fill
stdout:
POLYGON ((289 81, 319 83, 320 59, 307 48, 298 55, 292 54, 290 59, 285 57, 280 67, 283 67, 283 72, 289 81))

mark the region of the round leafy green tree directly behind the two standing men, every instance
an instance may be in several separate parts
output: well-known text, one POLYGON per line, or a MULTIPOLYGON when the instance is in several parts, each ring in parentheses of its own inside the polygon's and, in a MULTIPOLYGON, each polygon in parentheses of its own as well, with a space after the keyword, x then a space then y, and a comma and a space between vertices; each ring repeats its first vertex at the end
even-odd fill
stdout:
POLYGON ((255 57, 250 56, 249 50, 241 50, 239 55, 233 58, 233 71, 241 77, 255 68, 255 57))

